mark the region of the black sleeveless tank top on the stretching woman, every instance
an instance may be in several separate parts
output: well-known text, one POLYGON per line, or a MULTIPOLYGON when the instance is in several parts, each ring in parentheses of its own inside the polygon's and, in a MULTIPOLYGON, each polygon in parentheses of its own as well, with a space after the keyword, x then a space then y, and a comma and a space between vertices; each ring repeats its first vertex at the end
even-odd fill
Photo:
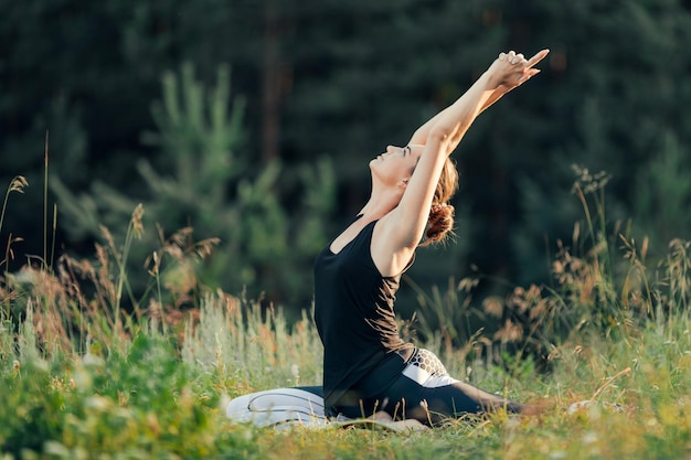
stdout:
POLYGON ((330 242, 315 261, 315 322, 323 344, 327 408, 358 404, 358 381, 394 355, 407 362, 415 350, 401 339, 395 321, 401 275, 382 277, 372 260, 375 224, 368 224, 338 254, 330 242))

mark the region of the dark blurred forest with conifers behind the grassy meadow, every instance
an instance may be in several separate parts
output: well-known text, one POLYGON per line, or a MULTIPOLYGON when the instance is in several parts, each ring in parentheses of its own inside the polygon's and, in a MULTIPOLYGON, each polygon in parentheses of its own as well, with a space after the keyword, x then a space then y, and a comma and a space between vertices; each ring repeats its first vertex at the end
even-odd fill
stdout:
POLYGON ((181 237, 217 247, 168 275, 180 307, 189 279, 297 315, 369 160, 510 49, 551 53, 455 153, 456 242, 419 252, 402 311, 467 276, 480 298, 550 285, 584 178, 608 181, 608 225, 647 236, 651 263, 690 236, 688 1, 0 0, 0 183, 30 184, 0 225, 10 271, 91 256, 102 226, 124 242, 141 203, 135 298, 181 237))

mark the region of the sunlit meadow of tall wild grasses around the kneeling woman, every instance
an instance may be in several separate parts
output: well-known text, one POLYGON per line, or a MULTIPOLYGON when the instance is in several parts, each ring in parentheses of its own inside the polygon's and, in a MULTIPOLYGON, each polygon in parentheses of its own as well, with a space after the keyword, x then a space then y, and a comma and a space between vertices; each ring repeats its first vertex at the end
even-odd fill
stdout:
MULTIPOLYGON (((674 239, 653 257, 647 239, 607 223, 604 186, 593 184, 574 189, 585 217, 553 258, 553 285, 476 302, 466 279, 421 293, 416 319, 402 319, 454 375, 542 414, 425 432, 227 420, 234 396, 320 384, 311 312, 288 320, 201 286, 193 268, 213 244, 185 231, 141 261, 143 274, 127 272, 146 210, 124 242, 104 228, 93 260, 10 272, 10 240, 0 264, 0 459, 691 458, 691 244, 674 239), (150 280, 137 299, 134 276, 150 280), (500 328, 460 340, 468 315, 500 328)), ((0 229, 22 186, 18 178, 8 189, 0 229)))

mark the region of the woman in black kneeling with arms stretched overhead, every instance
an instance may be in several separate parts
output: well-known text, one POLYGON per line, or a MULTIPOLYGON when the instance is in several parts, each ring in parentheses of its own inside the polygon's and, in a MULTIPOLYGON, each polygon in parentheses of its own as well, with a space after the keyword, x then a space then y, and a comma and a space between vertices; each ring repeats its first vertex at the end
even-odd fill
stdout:
POLYGON ((315 321, 325 346, 328 416, 384 411, 394 419, 435 424, 496 408, 525 410, 451 378, 433 353, 403 342, 393 307, 401 275, 417 247, 443 240, 451 229, 448 200, 458 179, 450 153, 483 109, 538 74, 533 66, 548 52, 530 60, 501 53, 407 146, 389 146, 370 162, 370 200, 315 263, 315 321))

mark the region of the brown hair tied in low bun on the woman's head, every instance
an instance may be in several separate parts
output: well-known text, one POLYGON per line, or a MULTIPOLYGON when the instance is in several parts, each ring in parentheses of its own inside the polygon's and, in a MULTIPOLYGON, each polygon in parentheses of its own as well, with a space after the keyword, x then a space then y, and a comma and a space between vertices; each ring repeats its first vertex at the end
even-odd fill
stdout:
POLYGON ((442 243, 454 229, 455 210, 448 201, 454 196, 456 190, 458 190, 458 171, 451 159, 447 158, 432 200, 427 231, 425 232, 426 238, 421 246, 442 243))

